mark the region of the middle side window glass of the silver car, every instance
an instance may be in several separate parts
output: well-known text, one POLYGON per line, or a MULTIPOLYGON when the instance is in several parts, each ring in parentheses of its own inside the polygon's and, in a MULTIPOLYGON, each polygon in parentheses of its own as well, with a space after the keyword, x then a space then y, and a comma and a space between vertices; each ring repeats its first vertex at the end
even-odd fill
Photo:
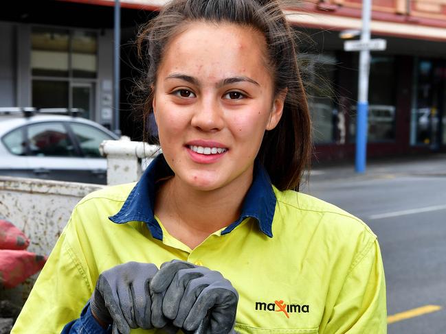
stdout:
POLYGON ((62 123, 48 122, 28 126, 30 156, 77 156, 62 123))

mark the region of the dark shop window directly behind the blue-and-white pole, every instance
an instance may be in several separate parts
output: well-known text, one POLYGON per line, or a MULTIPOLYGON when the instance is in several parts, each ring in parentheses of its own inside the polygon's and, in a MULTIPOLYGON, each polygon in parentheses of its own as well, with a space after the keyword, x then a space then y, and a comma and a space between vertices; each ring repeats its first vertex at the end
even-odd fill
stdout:
MULTIPOLYGON (((354 64, 357 68, 356 64, 354 64)), ((396 66, 392 56, 372 56, 368 89, 368 136, 370 143, 395 140, 395 92, 396 66)), ((355 86, 357 97, 357 84, 355 86)), ((353 105, 350 114, 350 142, 356 141, 356 108, 353 105)))

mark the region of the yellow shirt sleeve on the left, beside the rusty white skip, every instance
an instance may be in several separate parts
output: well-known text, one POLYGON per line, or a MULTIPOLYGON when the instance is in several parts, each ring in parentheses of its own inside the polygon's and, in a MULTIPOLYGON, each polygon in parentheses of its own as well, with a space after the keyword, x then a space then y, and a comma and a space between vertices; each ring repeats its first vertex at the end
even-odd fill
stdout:
MULTIPOLYGON (((66 324, 80 317, 91 297, 93 283, 74 227, 75 211, 38 275, 12 334, 60 333, 66 324)), ((87 310, 83 319, 91 323, 87 310)))

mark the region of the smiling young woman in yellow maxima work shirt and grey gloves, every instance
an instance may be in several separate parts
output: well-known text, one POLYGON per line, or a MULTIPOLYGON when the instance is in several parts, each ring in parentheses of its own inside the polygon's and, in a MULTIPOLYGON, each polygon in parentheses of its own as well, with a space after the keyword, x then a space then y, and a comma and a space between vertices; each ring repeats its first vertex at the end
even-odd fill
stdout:
POLYGON ((174 0, 142 30, 163 154, 74 208, 12 333, 386 333, 377 237, 298 193, 311 152, 275 0, 174 0))

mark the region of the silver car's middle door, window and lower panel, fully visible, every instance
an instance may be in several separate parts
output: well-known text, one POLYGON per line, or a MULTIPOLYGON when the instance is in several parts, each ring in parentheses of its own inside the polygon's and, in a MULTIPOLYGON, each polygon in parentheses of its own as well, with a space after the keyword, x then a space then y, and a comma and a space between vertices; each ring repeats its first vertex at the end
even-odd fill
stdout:
POLYGON ((89 182, 90 169, 61 121, 27 126, 28 165, 36 178, 89 182))

